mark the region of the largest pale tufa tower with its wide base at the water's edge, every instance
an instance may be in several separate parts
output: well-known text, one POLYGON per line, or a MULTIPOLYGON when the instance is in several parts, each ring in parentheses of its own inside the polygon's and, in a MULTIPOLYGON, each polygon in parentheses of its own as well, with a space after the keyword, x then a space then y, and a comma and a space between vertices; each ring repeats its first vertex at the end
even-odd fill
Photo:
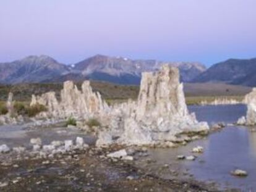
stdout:
POLYGON ((143 73, 138 100, 114 106, 110 114, 110 130, 100 133, 97 146, 161 145, 177 141, 181 133, 208 131, 206 122, 198 123, 189 114, 179 71, 167 65, 159 72, 143 73))

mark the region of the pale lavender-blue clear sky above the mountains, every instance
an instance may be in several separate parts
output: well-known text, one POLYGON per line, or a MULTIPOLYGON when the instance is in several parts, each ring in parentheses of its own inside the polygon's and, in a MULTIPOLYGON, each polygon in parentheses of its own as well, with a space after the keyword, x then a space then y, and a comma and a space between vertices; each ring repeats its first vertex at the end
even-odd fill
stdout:
POLYGON ((256 57, 255 0, 1 0, 0 62, 95 54, 210 66, 256 57))

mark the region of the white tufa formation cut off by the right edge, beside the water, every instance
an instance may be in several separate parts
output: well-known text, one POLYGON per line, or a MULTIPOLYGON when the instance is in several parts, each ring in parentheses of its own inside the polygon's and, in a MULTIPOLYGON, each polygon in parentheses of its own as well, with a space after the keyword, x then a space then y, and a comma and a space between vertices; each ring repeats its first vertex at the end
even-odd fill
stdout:
POLYGON ((255 125, 256 124, 256 88, 245 95, 245 104, 247 104, 246 117, 241 117, 237 120, 239 125, 255 125))

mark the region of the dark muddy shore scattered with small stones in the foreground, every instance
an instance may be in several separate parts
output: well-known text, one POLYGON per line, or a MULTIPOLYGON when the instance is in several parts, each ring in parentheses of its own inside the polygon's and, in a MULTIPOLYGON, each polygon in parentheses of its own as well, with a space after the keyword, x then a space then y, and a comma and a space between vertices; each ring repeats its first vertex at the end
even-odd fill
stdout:
POLYGON ((106 158, 108 151, 90 147, 46 159, 27 156, 10 158, 9 154, 3 154, 2 157, 6 158, 1 158, 0 190, 218 191, 214 185, 194 180, 164 180, 154 173, 136 168, 134 161, 106 158))

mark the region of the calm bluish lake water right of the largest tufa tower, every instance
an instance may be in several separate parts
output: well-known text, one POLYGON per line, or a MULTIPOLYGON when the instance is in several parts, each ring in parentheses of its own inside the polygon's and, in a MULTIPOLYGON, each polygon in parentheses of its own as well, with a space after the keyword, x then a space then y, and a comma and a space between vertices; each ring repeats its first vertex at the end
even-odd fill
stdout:
MULTIPOLYGON (((190 106, 190 112, 195 112, 198 120, 208 123, 234 123, 245 115, 246 107, 233 106, 190 106)), ((181 178, 192 173, 193 177, 203 182, 216 182, 221 189, 239 188, 244 191, 256 191, 256 133, 249 128, 228 126, 220 132, 208 136, 205 140, 198 140, 171 149, 151 149, 150 156, 156 162, 147 165, 149 169, 159 168, 160 165, 170 164, 168 170, 159 174, 170 178, 170 170, 175 170, 181 178), (203 146, 203 154, 191 151, 195 146, 203 146), (177 155, 196 155, 195 161, 177 161, 177 155), (245 178, 234 177, 231 170, 246 170, 249 175, 245 178)), ((189 177, 187 177, 189 178, 189 177)))

